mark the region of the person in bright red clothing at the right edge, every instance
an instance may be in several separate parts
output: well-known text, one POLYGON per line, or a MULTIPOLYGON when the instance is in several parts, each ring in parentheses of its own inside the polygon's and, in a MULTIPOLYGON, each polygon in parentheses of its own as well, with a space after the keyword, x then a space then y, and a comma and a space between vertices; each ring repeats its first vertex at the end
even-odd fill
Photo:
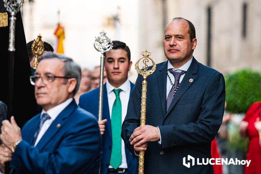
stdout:
POLYGON ((245 174, 261 174, 261 143, 259 133, 254 126, 256 121, 261 120, 261 102, 254 103, 246 112, 245 118, 239 125, 241 136, 249 137, 247 160, 251 160, 249 167, 245 165, 245 174))

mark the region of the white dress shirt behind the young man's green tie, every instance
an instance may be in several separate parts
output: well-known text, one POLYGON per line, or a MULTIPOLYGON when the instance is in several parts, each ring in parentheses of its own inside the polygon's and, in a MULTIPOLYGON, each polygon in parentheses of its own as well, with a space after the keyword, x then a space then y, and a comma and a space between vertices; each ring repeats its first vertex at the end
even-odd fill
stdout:
MULTIPOLYGON (((109 111, 110 111, 111 118, 112 118, 112 106, 116 99, 116 95, 112 90, 113 89, 122 90, 119 94, 121 100, 121 125, 122 125, 127 114, 127 107, 128 107, 128 102, 129 102, 130 92, 131 92, 131 82, 129 79, 127 79, 126 82, 124 82, 119 88, 115 88, 107 80, 106 88, 107 88, 109 111)), ((113 167, 110 165, 109 168, 113 168, 113 167)), ((122 139, 121 139, 121 165, 119 166, 119 168, 128 168, 126 155, 125 155, 125 145, 122 139)))

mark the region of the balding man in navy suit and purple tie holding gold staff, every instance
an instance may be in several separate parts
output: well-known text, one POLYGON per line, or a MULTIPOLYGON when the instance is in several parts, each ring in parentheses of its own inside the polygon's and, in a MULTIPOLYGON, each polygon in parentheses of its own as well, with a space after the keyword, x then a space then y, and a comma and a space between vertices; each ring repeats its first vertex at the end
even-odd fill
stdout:
POLYGON ((210 164, 197 165, 195 159, 192 166, 187 157, 199 162, 211 158, 211 141, 224 112, 224 78, 192 56, 197 39, 190 21, 174 18, 169 22, 163 44, 168 60, 157 64, 147 77, 147 125, 139 126, 143 80, 139 75, 121 136, 136 158, 145 151, 144 174, 213 173, 210 164))

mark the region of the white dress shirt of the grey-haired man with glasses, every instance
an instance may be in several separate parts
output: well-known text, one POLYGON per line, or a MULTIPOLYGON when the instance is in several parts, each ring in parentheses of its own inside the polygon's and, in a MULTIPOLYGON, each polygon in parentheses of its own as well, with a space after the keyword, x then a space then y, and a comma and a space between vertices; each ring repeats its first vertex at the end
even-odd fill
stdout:
POLYGON ((62 112, 62 110, 64 110, 64 108, 66 108, 72 101, 72 98, 67 99, 65 102, 58 104, 57 106, 49 109, 48 111, 45 111, 44 109, 42 110, 41 113, 41 117, 43 115, 43 113, 47 113, 51 119, 46 120, 43 123, 43 126, 38 134, 38 137, 34 143, 34 146, 36 146, 39 142, 39 140, 41 140, 41 138, 43 137, 44 133, 47 131, 47 129, 50 127, 50 125, 52 124, 52 122, 55 120, 55 118, 62 112))

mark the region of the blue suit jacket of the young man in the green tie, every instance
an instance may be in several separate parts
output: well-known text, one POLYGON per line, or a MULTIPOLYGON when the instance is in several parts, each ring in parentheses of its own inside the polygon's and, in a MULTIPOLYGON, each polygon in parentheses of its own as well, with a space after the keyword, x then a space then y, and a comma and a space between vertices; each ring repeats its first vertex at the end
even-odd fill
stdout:
MULTIPOLYGON (((131 91, 134 88, 134 84, 131 83, 131 91)), ((131 93, 131 92, 130 92, 131 93)), ((79 106, 86 111, 91 112, 98 117, 98 100, 99 99, 99 88, 96 88, 90 92, 82 94, 79 99, 79 106)), ((111 118, 108 104, 108 95, 106 84, 103 85, 103 119, 107 119, 105 123, 105 131, 102 135, 102 147, 103 156, 101 160, 101 174, 107 174, 108 167, 110 165, 110 158, 112 153, 112 128, 111 118)), ((125 147, 126 160, 128 165, 128 171, 126 174, 134 174, 136 169, 137 160, 133 158, 128 149, 125 147)))

